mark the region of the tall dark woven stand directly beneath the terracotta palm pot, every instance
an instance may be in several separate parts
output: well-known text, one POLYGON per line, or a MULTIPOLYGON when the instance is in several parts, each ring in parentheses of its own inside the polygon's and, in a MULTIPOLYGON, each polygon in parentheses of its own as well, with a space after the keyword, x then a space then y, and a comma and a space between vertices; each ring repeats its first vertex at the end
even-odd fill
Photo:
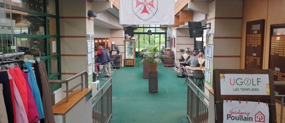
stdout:
POLYGON ((158 71, 149 71, 148 91, 158 92, 158 71))

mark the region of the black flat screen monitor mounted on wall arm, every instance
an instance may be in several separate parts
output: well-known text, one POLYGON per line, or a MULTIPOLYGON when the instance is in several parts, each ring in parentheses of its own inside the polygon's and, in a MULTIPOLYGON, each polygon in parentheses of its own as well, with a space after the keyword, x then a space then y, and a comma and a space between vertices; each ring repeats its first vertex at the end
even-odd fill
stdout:
POLYGON ((188 21, 188 26, 189 26, 190 38, 203 37, 203 29, 198 28, 202 26, 201 22, 188 21))

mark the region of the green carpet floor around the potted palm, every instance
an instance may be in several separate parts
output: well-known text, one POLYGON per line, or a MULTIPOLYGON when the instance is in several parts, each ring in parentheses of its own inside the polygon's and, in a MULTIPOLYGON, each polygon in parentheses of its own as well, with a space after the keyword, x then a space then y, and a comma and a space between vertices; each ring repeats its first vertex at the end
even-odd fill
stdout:
POLYGON ((143 79, 143 66, 115 70, 110 123, 188 123, 185 78, 177 78, 171 67, 159 65, 158 71, 159 90, 151 93, 148 79, 143 79))

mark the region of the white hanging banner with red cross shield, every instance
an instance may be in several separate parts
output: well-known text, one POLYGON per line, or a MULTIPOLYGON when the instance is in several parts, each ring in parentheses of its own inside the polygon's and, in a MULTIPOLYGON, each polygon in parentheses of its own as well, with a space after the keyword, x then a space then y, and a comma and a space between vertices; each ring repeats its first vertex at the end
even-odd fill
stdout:
POLYGON ((174 24, 174 0, 120 0, 120 24, 174 24))

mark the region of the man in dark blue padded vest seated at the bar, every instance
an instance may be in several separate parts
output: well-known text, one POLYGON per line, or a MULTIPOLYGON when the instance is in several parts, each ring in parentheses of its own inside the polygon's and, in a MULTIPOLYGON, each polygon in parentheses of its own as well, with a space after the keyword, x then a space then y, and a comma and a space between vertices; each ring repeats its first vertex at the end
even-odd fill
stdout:
POLYGON ((98 46, 98 52, 95 53, 95 56, 98 55, 97 62, 95 63, 95 71, 98 73, 100 71, 100 65, 102 63, 108 63, 108 52, 102 48, 102 46, 98 46))

